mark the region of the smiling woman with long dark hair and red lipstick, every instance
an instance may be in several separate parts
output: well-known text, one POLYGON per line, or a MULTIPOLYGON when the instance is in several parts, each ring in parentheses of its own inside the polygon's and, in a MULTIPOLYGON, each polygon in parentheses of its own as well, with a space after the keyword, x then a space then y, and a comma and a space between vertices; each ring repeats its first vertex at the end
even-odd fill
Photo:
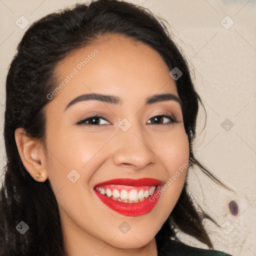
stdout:
POLYGON ((0 255, 227 255, 186 192, 190 164, 225 186, 192 150, 198 101, 142 7, 98 0, 33 23, 6 80, 0 255))

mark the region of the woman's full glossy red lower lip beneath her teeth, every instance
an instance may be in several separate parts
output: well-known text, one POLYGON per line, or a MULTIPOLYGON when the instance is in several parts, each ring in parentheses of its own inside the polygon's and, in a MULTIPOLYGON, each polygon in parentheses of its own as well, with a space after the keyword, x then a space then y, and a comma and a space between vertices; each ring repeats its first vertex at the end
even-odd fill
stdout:
POLYGON ((157 193, 158 190, 159 188, 157 188, 152 195, 148 196, 145 200, 140 202, 122 202, 113 200, 96 190, 95 193, 98 198, 110 209, 126 216, 138 216, 145 214, 153 209, 159 198, 154 197, 154 194, 157 193), (150 201, 150 197, 154 197, 152 198, 152 201, 150 201))

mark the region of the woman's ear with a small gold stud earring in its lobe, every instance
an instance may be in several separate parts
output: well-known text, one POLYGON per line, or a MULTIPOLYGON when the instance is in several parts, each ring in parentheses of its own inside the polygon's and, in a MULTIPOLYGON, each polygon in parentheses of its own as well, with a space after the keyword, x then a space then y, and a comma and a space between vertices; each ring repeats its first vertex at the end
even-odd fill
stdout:
POLYGON ((14 135, 20 159, 26 170, 36 181, 45 181, 45 152, 40 139, 29 137, 21 127, 15 129, 14 135))

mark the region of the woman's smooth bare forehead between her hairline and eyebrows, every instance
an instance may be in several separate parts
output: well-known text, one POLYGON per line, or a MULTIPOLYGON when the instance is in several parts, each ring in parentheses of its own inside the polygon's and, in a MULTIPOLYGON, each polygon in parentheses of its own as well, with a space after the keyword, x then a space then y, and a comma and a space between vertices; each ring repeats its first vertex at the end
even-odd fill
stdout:
POLYGON ((81 90, 123 97, 132 94, 134 98, 159 90, 177 95, 175 81, 160 54, 143 42, 119 34, 104 35, 74 50, 58 62, 55 76, 57 84, 64 85, 63 93, 73 96, 81 90))

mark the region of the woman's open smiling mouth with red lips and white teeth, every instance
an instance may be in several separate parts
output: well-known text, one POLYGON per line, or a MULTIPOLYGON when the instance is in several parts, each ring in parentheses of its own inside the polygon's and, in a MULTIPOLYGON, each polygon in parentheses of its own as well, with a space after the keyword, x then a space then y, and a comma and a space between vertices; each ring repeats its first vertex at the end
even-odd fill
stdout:
POLYGON ((163 182, 153 178, 118 178, 94 186, 98 198, 106 206, 127 216, 138 216, 153 209, 159 197, 154 194, 163 182))

